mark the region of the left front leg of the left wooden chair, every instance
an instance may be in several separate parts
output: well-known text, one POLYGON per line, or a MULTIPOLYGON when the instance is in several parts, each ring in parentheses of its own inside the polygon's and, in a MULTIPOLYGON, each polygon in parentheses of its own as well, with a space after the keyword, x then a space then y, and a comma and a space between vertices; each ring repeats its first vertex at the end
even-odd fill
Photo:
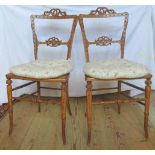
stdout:
POLYGON ((12 134, 13 130, 13 105, 12 105, 12 80, 7 79, 7 94, 8 94, 8 111, 9 111, 9 135, 12 134))

